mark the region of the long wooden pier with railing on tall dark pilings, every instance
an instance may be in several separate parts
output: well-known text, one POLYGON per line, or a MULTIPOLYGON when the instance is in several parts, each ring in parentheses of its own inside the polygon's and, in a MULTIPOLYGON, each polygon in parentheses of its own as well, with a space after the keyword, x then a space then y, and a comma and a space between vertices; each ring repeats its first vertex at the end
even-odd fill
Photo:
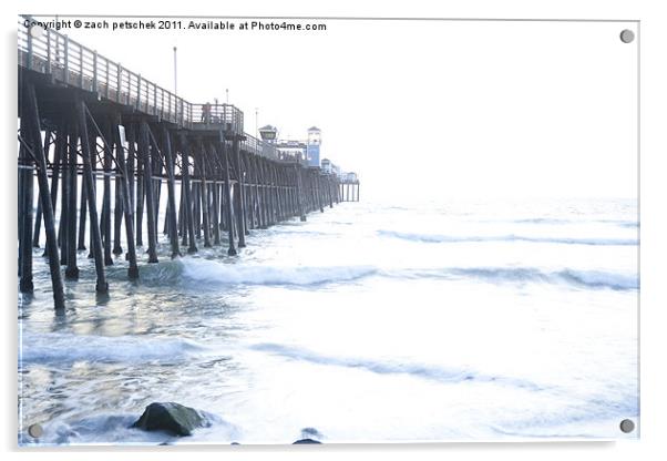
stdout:
POLYGON ((250 229, 359 197, 358 181, 246 134, 234 105, 187 102, 66 35, 33 38, 21 18, 18 71, 19 289, 33 290, 43 225, 55 309, 65 307, 61 268, 78 279, 83 250, 106 294, 105 267, 122 260, 113 256, 124 253, 137 278, 137 247, 157 263, 160 232, 172 258, 223 244, 236 255, 250 229))

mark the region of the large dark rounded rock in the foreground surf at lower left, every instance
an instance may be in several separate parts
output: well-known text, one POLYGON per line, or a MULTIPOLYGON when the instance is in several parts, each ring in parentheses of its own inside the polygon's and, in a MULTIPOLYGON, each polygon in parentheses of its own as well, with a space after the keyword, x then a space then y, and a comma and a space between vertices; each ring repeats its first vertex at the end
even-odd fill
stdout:
POLYGON ((197 410, 174 402, 153 402, 132 424, 145 431, 166 431, 175 436, 192 436, 196 428, 208 426, 197 410))

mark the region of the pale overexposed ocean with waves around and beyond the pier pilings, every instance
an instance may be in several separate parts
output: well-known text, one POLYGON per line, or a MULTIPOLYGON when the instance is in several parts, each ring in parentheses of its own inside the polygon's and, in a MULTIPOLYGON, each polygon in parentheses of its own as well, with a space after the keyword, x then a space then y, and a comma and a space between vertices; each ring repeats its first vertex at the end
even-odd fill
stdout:
POLYGON ((63 316, 35 248, 19 443, 636 438, 618 424, 639 417, 637 216, 632 199, 342 203, 250 230, 237 257, 199 243, 175 260, 161 233, 137 281, 123 256, 107 267, 109 297, 80 252, 63 316), (154 401, 212 424, 130 429, 154 401))

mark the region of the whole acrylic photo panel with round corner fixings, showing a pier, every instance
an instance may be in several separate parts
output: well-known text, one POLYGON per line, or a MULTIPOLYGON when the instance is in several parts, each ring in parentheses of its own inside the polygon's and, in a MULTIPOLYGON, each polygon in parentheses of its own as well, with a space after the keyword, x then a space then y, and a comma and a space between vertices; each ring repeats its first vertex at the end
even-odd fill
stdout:
POLYGON ((638 438, 638 22, 18 29, 19 444, 638 438))

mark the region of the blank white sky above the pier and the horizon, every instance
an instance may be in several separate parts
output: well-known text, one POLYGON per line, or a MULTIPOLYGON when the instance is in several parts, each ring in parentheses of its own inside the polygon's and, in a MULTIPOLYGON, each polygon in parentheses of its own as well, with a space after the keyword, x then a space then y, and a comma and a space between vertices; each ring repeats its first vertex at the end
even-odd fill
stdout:
POLYGON ((618 37, 635 23, 324 22, 68 33, 168 90, 178 47, 179 95, 228 88, 250 134, 255 107, 281 137, 317 125, 366 198, 636 197, 637 40, 618 37))

